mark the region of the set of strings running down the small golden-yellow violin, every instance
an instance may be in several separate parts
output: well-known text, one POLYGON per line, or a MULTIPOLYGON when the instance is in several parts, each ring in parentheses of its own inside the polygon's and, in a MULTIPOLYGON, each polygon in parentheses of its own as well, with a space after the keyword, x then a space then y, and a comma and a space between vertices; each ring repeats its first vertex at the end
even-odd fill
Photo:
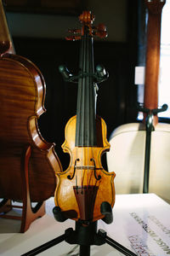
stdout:
MULTIPOLYGON (((82 72, 83 73, 94 72, 94 63, 91 63, 93 62, 91 60, 91 58, 93 57, 93 52, 92 52, 93 45, 91 45, 93 44, 93 42, 91 42, 91 40, 93 40, 93 38, 91 38, 91 35, 89 37, 88 31, 86 31, 85 35, 82 36, 82 72)), ((92 170, 93 168, 90 167, 92 166, 91 164, 92 155, 94 158, 94 150, 93 150, 94 145, 92 145, 92 142, 94 142, 94 134, 92 134, 92 136, 90 137, 90 125, 94 123, 94 120, 92 120, 94 118, 94 113, 90 114, 91 113, 90 106, 91 104, 94 104, 94 99, 93 99, 94 93, 92 92, 92 90, 94 90, 94 80, 89 77, 86 77, 86 78, 82 77, 81 82, 82 82, 81 83, 82 104, 80 107, 81 108, 80 112, 82 114, 81 124, 80 124, 82 127, 81 129, 81 132, 82 132, 81 134, 81 148, 82 148, 81 180, 82 182, 81 183, 82 184, 81 185, 83 185, 83 181, 85 177, 86 177, 85 179, 86 184, 88 185, 91 182, 91 177, 93 173, 93 170, 92 170), (89 88, 90 86, 93 86, 93 88, 89 88), (91 138, 93 138, 93 140, 91 138), (87 166, 86 169, 83 166, 87 166), (87 176, 85 176, 85 173, 87 174, 87 176), (89 178, 89 174, 90 174, 90 178, 89 178)))

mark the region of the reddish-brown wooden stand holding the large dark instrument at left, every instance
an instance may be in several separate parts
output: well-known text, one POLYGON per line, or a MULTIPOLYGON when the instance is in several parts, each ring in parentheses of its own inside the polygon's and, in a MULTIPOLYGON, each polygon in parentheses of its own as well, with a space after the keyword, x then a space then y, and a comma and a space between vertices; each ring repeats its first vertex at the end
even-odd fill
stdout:
POLYGON ((28 163, 31 156, 31 147, 26 148, 24 156, 21 157, 21 168, 22 168, 22 206, 12 205, 12 200, 3 199, 0 202, 0 218, 11 218, 21 220, 20 233, 28 230, 32 221, 36 218, 42 217, 45 214, 45 201, 38 202, 36 207, 31 207, 30 189, 29 189, 29 178, 28 178, 28 163), (7 215, 13 208, 21 208, 21 216, 7 215))

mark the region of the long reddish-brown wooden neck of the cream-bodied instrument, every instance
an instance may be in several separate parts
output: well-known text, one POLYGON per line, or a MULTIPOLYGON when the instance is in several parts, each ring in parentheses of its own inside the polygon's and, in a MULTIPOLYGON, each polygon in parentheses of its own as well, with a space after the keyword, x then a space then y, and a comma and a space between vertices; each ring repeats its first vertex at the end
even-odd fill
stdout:
MULTIPOLYGON (((165 1, 145 0, 149 11, 144 78, 144 108, 158 108, 158 79, 160 69, 161 10, 165 1)), ((158 123, 154 117, 154 125, 158 123)))

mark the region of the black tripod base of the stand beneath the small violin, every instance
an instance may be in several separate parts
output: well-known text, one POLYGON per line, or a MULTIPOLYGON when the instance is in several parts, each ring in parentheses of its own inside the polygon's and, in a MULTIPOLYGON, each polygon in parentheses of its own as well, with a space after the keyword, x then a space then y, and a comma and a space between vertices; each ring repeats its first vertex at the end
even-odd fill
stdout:
POLYGON ((50 247, 55 246, 61 241, 66 241, 70 244, 80 245, 80 256, 90 256, 90 246, 91 245, 103 245, 108 243, 111 247, 115 247, 116 250, 127 256, 136 256, 135 253, 123 247, 118 242, 112 240, 109 236, 106 236, 105 230, 99 230, 97 232, 97 221, 88 226, 81 224, 81 222, 76 222, 76 229, 73 230, 69 228, 65 230, 65 234, 55 238, 54 240, 48 241, 40 247, 36 247, 30 252, 24 253, 21 256, 33 256, 38 253, 42 253, 50 247))

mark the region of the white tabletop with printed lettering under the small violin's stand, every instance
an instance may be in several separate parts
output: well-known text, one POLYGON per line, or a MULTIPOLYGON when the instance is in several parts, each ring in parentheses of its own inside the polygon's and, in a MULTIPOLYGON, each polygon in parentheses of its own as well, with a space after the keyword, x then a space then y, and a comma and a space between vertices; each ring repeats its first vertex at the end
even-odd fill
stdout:
MULTIPOLYGON (((46 215, 35 220, 24 234, 18 233, 20 221, 0 218, 0 255, 18 256, 74 228, 75 222, 55 221, 54 198, 46 202, 46 215)), ((98 222, 98 228, 138 255, 170 254, 170 205, 155 194, 116 195, 112 224, 98 222)), ((79 246, 63 241, 38 255, 78 255, 79 246)), ((92 256, 123 255, 105 244, 91 246, 92 256)))

